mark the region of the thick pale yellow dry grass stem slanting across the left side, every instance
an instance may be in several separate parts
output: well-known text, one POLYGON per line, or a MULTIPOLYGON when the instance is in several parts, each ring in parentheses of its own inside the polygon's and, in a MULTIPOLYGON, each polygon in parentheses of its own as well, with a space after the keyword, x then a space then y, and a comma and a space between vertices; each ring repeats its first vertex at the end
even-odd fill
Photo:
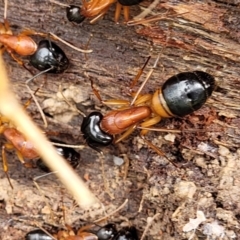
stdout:
POLYGON ((81 207, 90 207, 96 203, 96 198, 85 186, 84 182, 72 168, 60 157, 52 144, 42 134, 41 130, 32 122, 15 99, 10 90, 9 81, 2 56, 0 56, 0 112, 15 124, 27 139, 32 141, 40 157, 72 193, 81 207), (53 161, 54 159, 54 161, 53 161), (57 163, 57 164, 56 164, 57 163))

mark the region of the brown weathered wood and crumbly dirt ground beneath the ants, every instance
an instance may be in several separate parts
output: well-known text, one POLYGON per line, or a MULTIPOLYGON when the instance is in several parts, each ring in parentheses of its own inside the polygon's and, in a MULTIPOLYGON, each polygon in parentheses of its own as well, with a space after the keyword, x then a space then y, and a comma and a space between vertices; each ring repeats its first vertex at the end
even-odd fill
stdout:
MULTIPOLYGON (((133 7, 131 16, 150 3, 146 0, 133 7)), ((106 221, 118 229, 136 226, 139 238, 149 224, 145 239, 240 239, 239 7, 237 0, 158 1, 147 17, 159 19, 148 25, 115 24, 114 7, 96 24, 87 19, 73 25, 67 21, 64 8, 48 1, 10 1, 7 19, 13 32, 24 28, 53 32, 82 47, 93 35, 89 45, 93 52, 87 56, 59 43, 71 61, 70 67, 64 74, 47 74, 37 94, 49 124, 45 131, 55 139, 85 144, 80 132, 82 117, 59 97, 60 85, 68 100, 86 114, 95 110, 104 114, 109 108, 94 96, 89 78, 103 99, 130 99, 128 86, 149 55, 152 58, 140 82, 159 52, 161 59, 144 92, 152 93, 179 72, 194 70, 212 74, 217 88, 199 111, 158 124, 181 129, 181 134, 147 135, 178 167, 150 150, 137 130, 120 144, 104 148, 103 157, 88 146, 77 150, 81 161, 76 172, 101 202, 88 210, 77 206, 54 175, 38 180, 41 194, 33 178, 44 173, 24 168, 15 152, 8 152, 14 189, 0 171, 0 239, 24 239, 37 226, 50 232, 65 224, 79 228, 108 215, 126 200, 106 221)), ((3 19, 3 3, 0 14, 3 19)), ((24 82, 31 74, 6 52, 4 59, 13 89, 24 103, 29 98, 24 82)), ((28 58, 23 59, 27 63, 28 58)), ((38 77, 30 86, 36 89, 43 81, 44 76, 38 77)), ((42 127, 35 104, 28 112, 42 127)), ((1 136, 1 144, 5 142, 1 136)))

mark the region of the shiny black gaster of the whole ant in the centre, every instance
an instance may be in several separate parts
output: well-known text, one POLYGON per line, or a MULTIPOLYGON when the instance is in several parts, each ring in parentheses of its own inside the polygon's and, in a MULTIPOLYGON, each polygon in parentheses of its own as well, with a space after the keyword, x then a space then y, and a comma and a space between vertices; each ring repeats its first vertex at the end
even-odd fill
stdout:
POLYGON ((183 117, 201 108, 214 87, 214 78, 206 72, 183 72, 163 84, 162 94, 171 113, 183 117))

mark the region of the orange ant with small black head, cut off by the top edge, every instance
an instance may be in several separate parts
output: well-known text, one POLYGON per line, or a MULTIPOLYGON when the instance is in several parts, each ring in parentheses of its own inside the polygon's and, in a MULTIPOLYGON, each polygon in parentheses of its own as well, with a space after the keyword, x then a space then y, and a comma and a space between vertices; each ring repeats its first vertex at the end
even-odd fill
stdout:
POLYGON ((129 21, 129 7, 137 5, 143 0, 83 0, 82 6, 67 5, 59 3, 55 0, 50 2, 66 7, 67 19, 70 22, 81 23, 85 18, 93 18, 90 23, 96 22, 108 11, 110 6, 117 2, 114 20, 117 23, 121 10, 123 8, 124 19, 126 22, 129 21))

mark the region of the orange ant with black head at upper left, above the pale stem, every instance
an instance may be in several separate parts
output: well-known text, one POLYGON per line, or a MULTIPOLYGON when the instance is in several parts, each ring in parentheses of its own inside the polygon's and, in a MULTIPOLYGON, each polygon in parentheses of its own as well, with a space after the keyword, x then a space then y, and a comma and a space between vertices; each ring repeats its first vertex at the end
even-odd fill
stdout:
POLYGON ((25 66, 24 62, 15 56, 15 53, 21 56, 31 56, 30 64, 41 71, 45 70, 45 72, 49 73, 62 73, 68 68, 69 60, 65 53, 57 44, 51 42, 49 37, 59 40, 77 51, 83 53, 92 52, 92 50, 76 48, 53 33, 45 34, 26 29, 20 34, 14 35, 6 19, 6 12, 7 0, 5 0, 4 23, 0 24, 1 53, 6 50, 19 65, 23 66, 28 71, 29 69, 25 66), (48 40, 42 40, 37 44, 30 35, 47 37, 48 40))

